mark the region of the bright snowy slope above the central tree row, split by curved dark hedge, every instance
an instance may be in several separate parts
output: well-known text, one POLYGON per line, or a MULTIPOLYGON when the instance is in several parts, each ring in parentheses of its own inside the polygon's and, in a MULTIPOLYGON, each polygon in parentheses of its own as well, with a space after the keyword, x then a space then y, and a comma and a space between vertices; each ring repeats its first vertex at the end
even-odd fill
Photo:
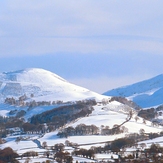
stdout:
MULTIPOLYGON (((78 124, 87 124, 87 125, 96 125, 101 127, 101 125, 113 127, 115 124, 123 123, 127 118, 127 113, 124 111, 125 106, 118 102, 111 102, 106 106, 95 106, 93 113, 89 117, 84 117, 79 119, 77 122, 70 124, 70 126, 77 126, 78 124), (115 110, 115 111, 113 111, 115 110)), ((146 124, 143 123, 143 119, 139 117, 139 120, 135 121, 135 115, 133 118, 124 124, 128 128, 129 133, 139 133, 140 129, 143 128, 146 133, 151 132, 161 132, 163 127, 152 127, 151 122, 146 121, 146 124)))

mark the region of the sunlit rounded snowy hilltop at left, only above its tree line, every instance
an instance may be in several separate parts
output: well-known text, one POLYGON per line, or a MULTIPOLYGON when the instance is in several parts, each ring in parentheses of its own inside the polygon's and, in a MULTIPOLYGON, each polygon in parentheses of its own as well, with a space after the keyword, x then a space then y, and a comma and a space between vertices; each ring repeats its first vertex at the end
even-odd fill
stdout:
POLYGON ((31 68, 0 74, 0 99, 34 95, 36 101, 74 101, 85 98, 102 98, 95 92, 71 84, 60 76, 44 69, 31 68))

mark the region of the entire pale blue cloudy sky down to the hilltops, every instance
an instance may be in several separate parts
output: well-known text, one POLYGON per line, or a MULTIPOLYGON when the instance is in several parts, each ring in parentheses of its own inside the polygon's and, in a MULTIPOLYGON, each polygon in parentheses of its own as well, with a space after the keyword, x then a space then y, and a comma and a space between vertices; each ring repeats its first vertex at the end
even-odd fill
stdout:
POLYGON ((0 2, 0 72, 43 68, 98 93, 163 73, 162 0, 0 2))

